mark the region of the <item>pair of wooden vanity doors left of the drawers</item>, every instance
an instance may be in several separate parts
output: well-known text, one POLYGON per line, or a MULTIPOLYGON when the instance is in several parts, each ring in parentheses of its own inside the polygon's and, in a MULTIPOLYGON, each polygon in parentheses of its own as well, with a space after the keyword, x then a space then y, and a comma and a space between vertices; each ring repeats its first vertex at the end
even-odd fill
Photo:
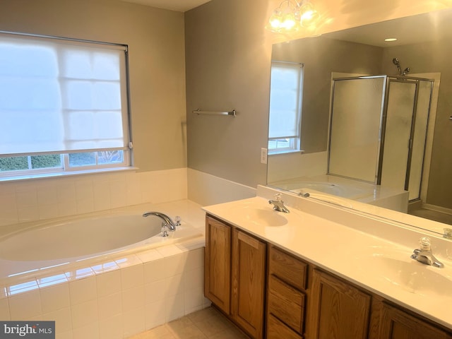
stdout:
POLYGON ((204 295, 251 338, 263 338, 266 243, 206 216, 204 295))

